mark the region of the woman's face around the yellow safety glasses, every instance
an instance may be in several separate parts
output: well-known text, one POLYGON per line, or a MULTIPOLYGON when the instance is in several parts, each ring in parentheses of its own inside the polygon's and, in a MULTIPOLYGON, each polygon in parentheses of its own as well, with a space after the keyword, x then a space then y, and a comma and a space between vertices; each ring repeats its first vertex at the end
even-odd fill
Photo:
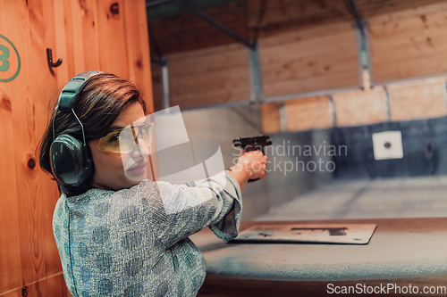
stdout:
MULTIPOLYGON (((145 120, 145 114, 139 103, 126 106, 109 130, 125 128, 129 125, 139 126, 145 120)), ((130 153, 106 153, 99 149, 99 139, 89 142, 95 174, 93 187, 118 191, 136 186, 147 178, 149 148, 139 136, 139 145, 130 153), (126 169, 126 170, 124 170, 126 169)))

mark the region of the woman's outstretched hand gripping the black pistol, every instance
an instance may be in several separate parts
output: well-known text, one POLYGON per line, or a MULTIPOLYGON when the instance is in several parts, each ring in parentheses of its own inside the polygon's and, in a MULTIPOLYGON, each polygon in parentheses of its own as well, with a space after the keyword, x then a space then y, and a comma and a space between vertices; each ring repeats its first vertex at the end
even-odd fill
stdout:
POLYGON ((249 179, 261 179, 266 176, 267 156, 259 151, 242 153, 236 165, 230 168, 230 175, 234 177, 243 191, 249 179))

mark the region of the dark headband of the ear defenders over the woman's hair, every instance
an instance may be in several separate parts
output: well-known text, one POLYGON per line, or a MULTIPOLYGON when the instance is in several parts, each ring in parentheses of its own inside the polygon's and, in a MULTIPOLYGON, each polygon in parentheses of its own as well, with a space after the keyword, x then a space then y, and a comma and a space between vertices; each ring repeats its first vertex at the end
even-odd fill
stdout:
POLYGON ((57 101, 57 108, 61 111, 72 111, 74 109, 74 105, 78 100, 78 95, 84 87, 85 83, 89 78, 101 73, 102 71, 87 71, 82 72, 72 78, 66 85, 63 87, 61 95, 59 95, 59 100, 57 101))

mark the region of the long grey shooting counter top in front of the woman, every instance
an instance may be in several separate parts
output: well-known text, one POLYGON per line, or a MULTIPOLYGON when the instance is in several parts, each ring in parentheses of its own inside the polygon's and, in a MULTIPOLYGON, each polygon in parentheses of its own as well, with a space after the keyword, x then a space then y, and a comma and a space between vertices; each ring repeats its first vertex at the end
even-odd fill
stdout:
POLYGON ((442 277, 442 285, 447 285, 447 218, 247 221, 241 223, 240 231, 254 225, 318 223, 373 223, 377 227, 366 245, 225 243, 209 229, 190 238, 207 260, 207 279, 215 281, 230 277, 325 283, 418 279, 433 283, 442 277))

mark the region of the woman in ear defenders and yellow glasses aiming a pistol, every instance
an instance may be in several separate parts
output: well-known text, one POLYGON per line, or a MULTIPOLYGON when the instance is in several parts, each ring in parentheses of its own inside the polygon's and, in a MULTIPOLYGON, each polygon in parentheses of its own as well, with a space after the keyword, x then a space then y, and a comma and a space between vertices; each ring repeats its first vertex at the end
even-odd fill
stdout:
POLYGON ((72 109, 65 106, 63 111, 61 94, 39 145, 41 168, 55 177, 63 192, 53 229, 70 293, 195 296, 206 266, 188 236, 207 226, 222 239, 237 235, 241 191, 249 178, 265 176, 266 156, 244 153, 232 169, 193 187, 144 179, 150 123, 131 126, 134 145, 116 145, 115 137, 147 114, 138 87, 111 73, 84 78, 74 87, 72 109), (75 175, 82 177, 75 182, 66 182, 64 169, 57 168, 63 147, 56 143, 62 136, 74 137, 80 158, 84 155, 86 163, 93 163, 85 166, 90 168, 87 173, 75 175), (126 163, 133 165, 124 170, 126 163), (215 193, 219 187, 223 191, 215 193), (184 207, 166 211, 172 205, 184 207))

